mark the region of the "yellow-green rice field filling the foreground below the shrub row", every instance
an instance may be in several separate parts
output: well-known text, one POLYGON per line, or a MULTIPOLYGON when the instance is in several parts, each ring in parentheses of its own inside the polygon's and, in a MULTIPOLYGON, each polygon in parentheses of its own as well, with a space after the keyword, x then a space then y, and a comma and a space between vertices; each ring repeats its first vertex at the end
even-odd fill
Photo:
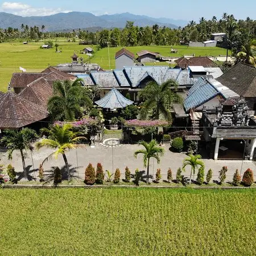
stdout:
POLYGON ((254 255, 256 190, 1 189, 1 255, 254 255))

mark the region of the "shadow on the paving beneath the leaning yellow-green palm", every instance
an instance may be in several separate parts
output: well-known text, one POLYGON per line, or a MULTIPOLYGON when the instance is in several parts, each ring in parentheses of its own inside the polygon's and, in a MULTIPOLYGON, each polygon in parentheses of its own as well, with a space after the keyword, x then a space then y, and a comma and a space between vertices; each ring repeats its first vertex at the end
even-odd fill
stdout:
MULTIPOLYGON (((71 179, 80 180, 79 174, 77 172, 77 169, 79 169, 80 167, 72 167, 71 164, 69 164, 68 166, 69 166, 71 179)), ((44 185, 50 183, 51 181, 53 181, 54 183, 54 171, 56 167, 57 166, 52 166, 50 170, 44 171, 44 183, 43 183, 44 185)), ((60 173, 61 173, 61 180, 68 180, 68 172, 66 170, 66 166, 61 167, 60 173)))

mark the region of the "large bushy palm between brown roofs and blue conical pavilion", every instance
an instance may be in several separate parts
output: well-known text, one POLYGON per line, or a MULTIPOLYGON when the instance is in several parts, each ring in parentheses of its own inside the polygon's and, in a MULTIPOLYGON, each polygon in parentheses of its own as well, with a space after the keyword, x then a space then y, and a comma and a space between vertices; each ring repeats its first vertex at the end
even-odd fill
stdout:
POLYGON ((53 97, 48 100, 48 111, 54 120, 73 121, 82 115, 81 106, 89 110, 92 100, 88 91, 81 84, 82 79, 71 81, 56 81, 53 83, 53 97))

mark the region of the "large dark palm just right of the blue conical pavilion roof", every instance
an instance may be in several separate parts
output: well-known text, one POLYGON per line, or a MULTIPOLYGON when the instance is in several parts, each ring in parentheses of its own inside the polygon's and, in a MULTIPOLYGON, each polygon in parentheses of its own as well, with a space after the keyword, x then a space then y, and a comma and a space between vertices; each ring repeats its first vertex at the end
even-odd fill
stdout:
POLYGON ((181 103, 181 98, 173 89, 177 88, 174 80, 168 80, 158 85, 156 82, 149 82, 144 89, 139 92, 139 97, 144 101, 141 110, 141 117, 146 119, 147 113, 154 110, 153 118, 159 119, 160 114, 171 121, 169 111, 172 103, 181 103))

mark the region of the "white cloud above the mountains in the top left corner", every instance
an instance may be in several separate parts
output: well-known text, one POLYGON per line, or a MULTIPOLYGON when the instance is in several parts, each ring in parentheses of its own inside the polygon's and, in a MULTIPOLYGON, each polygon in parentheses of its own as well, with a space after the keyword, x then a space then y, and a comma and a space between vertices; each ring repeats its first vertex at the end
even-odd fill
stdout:
POLYGON ((47 16, 57 13, 69 13, 70 10, 63 10, 61 8, 48 9, 48 8, 35 8, 30 5, 19 2, 3 2, 2 10, 7 13, 20 15, 20 16, 47 16))

